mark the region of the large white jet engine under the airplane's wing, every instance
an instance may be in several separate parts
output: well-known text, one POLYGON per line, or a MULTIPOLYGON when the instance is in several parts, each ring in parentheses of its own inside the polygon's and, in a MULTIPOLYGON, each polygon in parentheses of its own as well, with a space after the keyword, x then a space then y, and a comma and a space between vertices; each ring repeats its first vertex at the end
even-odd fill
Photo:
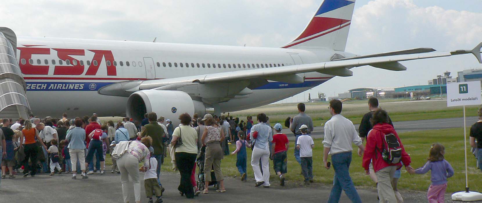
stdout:
POLYGON ((154 112, 157 116, 170 119, 174 126, 179 125, 179 115, 198 113, 202 117, 206 107, 201 101, 193 101, 183 91, 146 89, 136 91, 127 100, 127 116, 140 121, 145 113, 154 112))

